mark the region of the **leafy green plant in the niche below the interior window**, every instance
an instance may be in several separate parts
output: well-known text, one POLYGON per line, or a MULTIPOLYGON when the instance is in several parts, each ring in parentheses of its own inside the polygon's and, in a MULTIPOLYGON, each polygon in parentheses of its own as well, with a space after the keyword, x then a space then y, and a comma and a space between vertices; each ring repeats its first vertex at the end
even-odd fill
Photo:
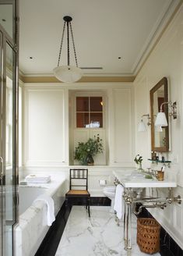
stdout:
POLYGON ((89 138, 86 142, 79 142, 78 147, 75 148, 74 158, 81 162, 82 164, 86 164, 87 155, 91 155, 92 157, 103 153, 103 144, 102 139, 100 139, 99 134, 94 136, 94 138, 89 138))

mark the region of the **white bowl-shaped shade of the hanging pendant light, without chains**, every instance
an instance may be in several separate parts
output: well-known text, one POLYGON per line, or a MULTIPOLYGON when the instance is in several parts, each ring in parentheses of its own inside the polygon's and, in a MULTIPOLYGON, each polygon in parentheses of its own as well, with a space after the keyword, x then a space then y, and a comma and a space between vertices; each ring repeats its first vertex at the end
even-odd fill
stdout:
POLYGON ((58 66, 53 72, 58 80, 65 83, 74 83, 83 75, 82 70, 77 66, 58 66))

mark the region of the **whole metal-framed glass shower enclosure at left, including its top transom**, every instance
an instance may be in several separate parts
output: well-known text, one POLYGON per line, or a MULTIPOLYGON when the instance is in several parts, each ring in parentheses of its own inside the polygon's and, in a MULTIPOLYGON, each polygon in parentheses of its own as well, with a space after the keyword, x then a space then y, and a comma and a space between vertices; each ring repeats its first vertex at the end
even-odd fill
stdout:
POLYGON ((0 0, 0 256, 14 255, 18 183, 18 2, 0 0))

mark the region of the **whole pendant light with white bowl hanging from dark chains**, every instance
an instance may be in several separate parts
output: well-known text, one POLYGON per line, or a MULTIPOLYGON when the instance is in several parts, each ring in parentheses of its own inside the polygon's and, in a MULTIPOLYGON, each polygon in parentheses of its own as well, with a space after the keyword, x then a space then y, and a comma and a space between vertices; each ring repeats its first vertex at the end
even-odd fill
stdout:
POLYGON ((76 48, 75 48, 75 44, 74 44, 74 37, 73 37, 72 25, 71 25, 72 17, 64 16, 63 20, 65 22, 64 22, 64 27, 63 27, 60 51, 59 51, 59 55, 58 55, 58 66, 55 69, 53 69, 53 72, 58 80, 65 82, 65 83, 74 83, 74 82, 78 81, 82 77, 83 74, 82 74, 82 70, 79 69, 79 67, 78 67, 78 62, 77 62, 77 57, 76 57, 76 48), (59 66, 60 59, 61 59, 61 53, 62 53, 62 44, 63 44, 64 34, 65 34, 65 24, 67 26, 68 65, 67 66, 59 66), (74 50, 76 66, 70 65, 70 34, 69 34, 69 32, 71 34, 71 40, 72 40, 72 45, 73 45, 73 50, 74 50))

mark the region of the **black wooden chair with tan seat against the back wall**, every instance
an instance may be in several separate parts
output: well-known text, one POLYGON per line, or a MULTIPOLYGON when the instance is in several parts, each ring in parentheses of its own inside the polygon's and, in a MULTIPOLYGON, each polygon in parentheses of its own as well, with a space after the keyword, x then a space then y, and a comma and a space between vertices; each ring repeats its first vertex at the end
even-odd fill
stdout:
POLYGON ((90 193, 88 192, 88 169, 70 169, 69 191, 65 194, 65 204, 76 203, 86 204, 90 217, 90 193))

